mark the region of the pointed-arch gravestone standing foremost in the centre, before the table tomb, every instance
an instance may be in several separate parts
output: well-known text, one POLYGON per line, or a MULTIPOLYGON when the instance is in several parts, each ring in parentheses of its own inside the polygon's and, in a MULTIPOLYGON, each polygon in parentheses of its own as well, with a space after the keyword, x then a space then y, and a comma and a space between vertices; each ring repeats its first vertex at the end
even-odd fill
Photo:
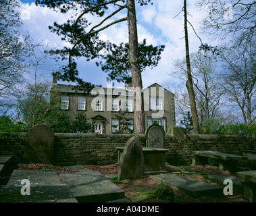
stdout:
POLYGON ((138 180, 144 176, 144 156, 140 141, 133 136, 120 157, 118 180, 138 180))

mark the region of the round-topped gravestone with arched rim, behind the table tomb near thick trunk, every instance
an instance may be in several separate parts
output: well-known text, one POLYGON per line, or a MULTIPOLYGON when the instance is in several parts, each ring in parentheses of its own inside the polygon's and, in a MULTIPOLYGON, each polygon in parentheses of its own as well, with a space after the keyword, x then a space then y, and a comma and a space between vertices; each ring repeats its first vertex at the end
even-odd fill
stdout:
POLYGON ((165 132, 162 126, 159 126, 159 124, 151 124, 145 134, 148 148, 163 148, 165 132))

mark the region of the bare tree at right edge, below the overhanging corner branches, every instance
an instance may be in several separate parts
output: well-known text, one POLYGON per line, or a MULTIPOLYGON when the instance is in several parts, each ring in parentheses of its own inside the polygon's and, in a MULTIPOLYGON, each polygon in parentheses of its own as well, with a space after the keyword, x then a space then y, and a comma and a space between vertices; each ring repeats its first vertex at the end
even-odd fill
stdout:
POLYGON ((242 43, 236 49, 224 49, 222 59, 226 74, 224 88, 229 101, 238 105, 245 124, 251 124, 256 110, 256 52, 255 43, 242 43))

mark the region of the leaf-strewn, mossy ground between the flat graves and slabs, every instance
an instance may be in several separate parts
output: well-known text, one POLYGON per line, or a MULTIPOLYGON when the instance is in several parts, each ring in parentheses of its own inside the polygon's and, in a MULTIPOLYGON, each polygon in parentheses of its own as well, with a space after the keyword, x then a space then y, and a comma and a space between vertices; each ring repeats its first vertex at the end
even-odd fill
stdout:
MULTIPOLYGON (((179 169, 179 175, 186 176, 188 178, 193 178, 195 180, 209 182, 211 184, 219 184, 223 186, 222 182, 215 182, 208 177, 210 174, 227 174, 232 175, 228 171, 219 171, 216 167, 209 166, 179 166, 174 167, 167 165, 172 169, 179 169), (222 183, 222 184, 221 184, 222 183)), ((199 198, 192 198, 188 196, 182 190, 174 186, 165 186, 163 183, 151 179, 149 176, 141 180, 122 180, 118 181, 118 164, 111 165, 84 165, 84 168, 90 169, 91 171, 99 171, 101 174, 107 176, 114 184, 124 190, 127 198, 132 200, 132 202, 230 202, 232 200, 237 200, 242 198, 243 190, 242 188, 236 188, 234 186, 234 195, 225 196, 224 194, 220 196, 203 196, 199 198), (169 191, 168 191, 169 190, 169 191), (160 195, 159 195, 160 191, 160 195), (169 192, 168 196, 163 196, 166 192, 169 192), (174 199, 170 200, 170 192, 174 194, 174 199)), ((53 167, 52 165, 43 164, 20 164, 19 169, 32 169, 32 170, 44 170, 51 171, 55 170, 60 172, 72 172, 75 170, 64 168, 64 167, 53 167)))

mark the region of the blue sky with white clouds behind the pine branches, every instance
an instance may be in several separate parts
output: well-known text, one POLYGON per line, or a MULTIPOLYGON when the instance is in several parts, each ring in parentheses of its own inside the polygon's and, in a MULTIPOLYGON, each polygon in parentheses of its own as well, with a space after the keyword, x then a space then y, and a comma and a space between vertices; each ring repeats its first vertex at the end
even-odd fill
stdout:
MULTIPOLYGON (((195 7, 195 2, 196 0, 188 1, 188 13, 190 14, 188 20, 193 24, 193 27, 201 37, 203 43, 211 44, 199 30, 200 22, 205 15, 203 11, 199 11, 199 9, 195 7)), ((53 26, 54 22, 58 24, 66 22, 68 18, 71 18, 72 12, 68 14, 56 13, 53 9, 49 9, 48 7, 36 6, 34 1, 23 0, 22 3, 21 18, 24 24, 22 28, 24 34, 28 32, 30 38, 32 38, 35 43, 42 42, 43 45, 48 45, 49 47, 61 48, 64 45, 70 46, 65 41, 61 41, 61 36, 51 32, 48 26, 53 26)), ((180 13, 182 7, 183 1, 171 0, 155 0, 153 1, 153 5, 136 5, 138 41, 141 42, 146 38, 147 45, 165 45, 157 67, 153 69, 147 68, 142 73, 144 88, 155 82, 162 85, 167 80, 170 80, 169 74, 172 72, 173 61, 175 59, 182 59, 185 56, 184 16, 182 12, 180 13)), ((114 18, 124 18, 125 12, 125 10, 122 11, 122 14, 117 14, 114 18)), ((86 18, 93 24, 97 24, 101 20, 101 18, 90 15, 86 16, 86 18)), ((116 44, 127 43, 127 23, 122 22, 103 30, 100 32, 100 38, 116 44)), ((188 28, 188 38, 190 53, 198 51, 201 43, 190 26, 188 28)), ((95 61, 86 61, 80 58, 76 62, 78 63, 80 78, 93 84, 107 85, 107 74, 105 74, 100 67, 97 67, 95 61)), ((45 75, 43 79, 51 81, 51 73, 57 70, 58 65, 54 65, 54 61, 51 61, 49 64, 51 64, 51 67, 48 67, 47 71, 41 70, 41 72, 38 73, 45 75)), ((113 82, 116 87, 124 86, 124 84, 119 84, 114 80, 113 82)))

